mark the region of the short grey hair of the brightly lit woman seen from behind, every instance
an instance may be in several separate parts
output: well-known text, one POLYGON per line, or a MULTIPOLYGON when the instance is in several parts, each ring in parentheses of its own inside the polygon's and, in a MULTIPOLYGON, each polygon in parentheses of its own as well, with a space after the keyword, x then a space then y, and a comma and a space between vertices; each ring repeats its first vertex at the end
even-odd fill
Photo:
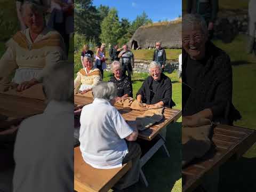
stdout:
POLYGON ((112 82, 98 82, 97 85, 92 87, 94 98, 112 100, 117 95, 117 88, 112 82))

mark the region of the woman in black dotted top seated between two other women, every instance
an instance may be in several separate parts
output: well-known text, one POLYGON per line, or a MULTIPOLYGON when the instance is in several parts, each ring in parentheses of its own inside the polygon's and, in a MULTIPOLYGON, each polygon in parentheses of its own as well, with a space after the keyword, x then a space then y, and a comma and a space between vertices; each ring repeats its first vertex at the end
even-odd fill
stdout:
POLYGON ((121 98, 132 97, 132 82, 127 75, 122 73, 121 63, 114 61, 111 64, 111 70, 114 76, 110 77, 109 82, 113 82, 117 87, 116 101, 121 98))

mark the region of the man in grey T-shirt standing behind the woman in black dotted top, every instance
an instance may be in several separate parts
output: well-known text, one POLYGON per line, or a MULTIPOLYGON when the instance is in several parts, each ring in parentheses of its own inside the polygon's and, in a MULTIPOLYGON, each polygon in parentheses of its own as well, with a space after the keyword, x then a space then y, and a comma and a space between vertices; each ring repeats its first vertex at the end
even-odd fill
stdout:
POLYGON ((128 45, 123 46, 123 51, 118 54, 118 58, 122 59, 122 70, 123 74, 128 72, 128 77, 131 81, 132 79, 132 68, 134 67, 134 55, 131 50, 129 50, 128 45))

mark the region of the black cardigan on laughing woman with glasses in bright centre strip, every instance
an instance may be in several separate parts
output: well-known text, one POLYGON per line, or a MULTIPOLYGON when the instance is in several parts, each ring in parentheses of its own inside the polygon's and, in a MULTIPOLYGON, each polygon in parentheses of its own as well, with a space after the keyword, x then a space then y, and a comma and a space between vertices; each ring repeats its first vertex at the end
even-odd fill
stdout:
POLYGON ((154 94, 152 93, 152 91, 150 91, 150 87, 153 83, 154 79, 153 77, 149 76, 145 79, 145 81, 143 82, 142 86, 140 87, 137 95, 141 95, 142 96, 142 102, 146 103, 146 104, 155 104, 158 103, 160 101, 164 102, 164 106, 165 107, 173 107, 175 106, 175 103, 172 100, 172 82, 171 79, 169 77, 167 77, 166 75, 164 75, 163 73, 161 74, 161 81, 160 84, 158 86, 158 90, 155 93, 152 101, 150 102, 150 94, 154 94))

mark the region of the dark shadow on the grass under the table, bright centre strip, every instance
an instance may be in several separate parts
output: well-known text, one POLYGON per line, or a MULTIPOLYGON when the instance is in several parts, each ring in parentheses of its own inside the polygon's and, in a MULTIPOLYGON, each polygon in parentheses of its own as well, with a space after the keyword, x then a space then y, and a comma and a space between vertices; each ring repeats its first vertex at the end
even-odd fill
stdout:
POLYGON ((138 183, 134 192, 170 192, 174 183, 181 178, 181 122, 167 126, 166 147, 170 157, 166 157, 163 147, 142 167, 149 186, 138 183))

